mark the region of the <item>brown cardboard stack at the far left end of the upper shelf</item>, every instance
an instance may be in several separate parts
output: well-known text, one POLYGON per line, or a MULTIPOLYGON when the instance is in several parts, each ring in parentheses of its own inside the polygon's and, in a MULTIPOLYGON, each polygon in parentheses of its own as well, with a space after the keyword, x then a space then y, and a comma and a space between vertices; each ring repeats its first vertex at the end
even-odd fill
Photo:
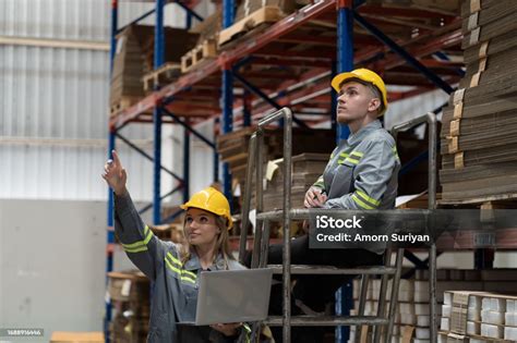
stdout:
MULTIPOLYGON (((192 49, 197 34, 184 29, 165 29, 165 62, 180 63, 192 49)), ((154 27, 128 26, 117 36, 117 50, 111 74, 111 114, 137 102, 144 96, 143 76, 154 70, 154 27)))

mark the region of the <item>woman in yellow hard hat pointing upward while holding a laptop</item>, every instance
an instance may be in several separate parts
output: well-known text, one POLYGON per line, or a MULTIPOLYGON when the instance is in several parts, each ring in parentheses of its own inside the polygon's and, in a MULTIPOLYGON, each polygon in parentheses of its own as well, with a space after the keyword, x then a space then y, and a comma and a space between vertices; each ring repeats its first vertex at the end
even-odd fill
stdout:
POLYGON ((229 253, 232 226, 226 197, 208 187, 192 196, 183 230, 188 245, 158 240, 139 216, 125 188, 127 173, 117 151, 103 179, 115 192, 115 233, 128 257, 153 281, 148 342, 247 342, 250 329, 240 323, 181 326, 195 320, 199 275, 203 270, 244 269, 229 253))

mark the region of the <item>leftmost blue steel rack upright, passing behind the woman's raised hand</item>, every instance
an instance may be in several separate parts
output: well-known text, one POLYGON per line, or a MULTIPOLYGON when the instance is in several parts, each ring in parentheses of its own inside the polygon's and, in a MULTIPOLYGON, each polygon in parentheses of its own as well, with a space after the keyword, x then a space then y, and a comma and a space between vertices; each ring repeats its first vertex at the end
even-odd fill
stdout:
MULTIPOLYGON (((117 49, 117 25, 118 25, 118 1, 111 1, 111 39, 109 50, 109 70, 110 75, 113 71, 115 51, 117 49)), ((115 149, 115 132, 109 130, 108 135, 108 158, 111 159, 111 151, 115 149)), ((108 187, 108 229, 107 241, 108 248, 106 249, 106 286, 108 285, 108 272, 113 270, 113 250, 110 248, 115 244, 113 232, 113 191, 108 187)), ((109 343, 109 322, 111 321, 111 301, 106 302, 106 317, 104 318, 104 335, 106 343, 109 343)))

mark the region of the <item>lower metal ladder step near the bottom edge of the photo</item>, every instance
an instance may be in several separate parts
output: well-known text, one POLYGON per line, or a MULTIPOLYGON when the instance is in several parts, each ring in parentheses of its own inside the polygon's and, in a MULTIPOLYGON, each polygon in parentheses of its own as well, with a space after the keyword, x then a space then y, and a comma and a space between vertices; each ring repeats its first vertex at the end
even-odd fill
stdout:
MULTIPOLYGON (((272 327, 281 327, 282 317, 272 316, 264 320, 264 323, 272 327)), ((291 327, 335 327, 335 326, 387 326, 388 320, 374 316, 292 316, 291 327)))

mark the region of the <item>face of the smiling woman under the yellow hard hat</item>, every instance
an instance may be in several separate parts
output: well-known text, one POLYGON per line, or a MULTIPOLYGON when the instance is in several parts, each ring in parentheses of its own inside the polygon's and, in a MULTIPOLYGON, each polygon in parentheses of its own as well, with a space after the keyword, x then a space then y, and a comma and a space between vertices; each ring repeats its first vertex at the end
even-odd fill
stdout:
POLYGON ((185 237, 192 245, 209 245, 217 241, 220 229, 216 216, 199 208, 189 208, 185 217, 185 237))

